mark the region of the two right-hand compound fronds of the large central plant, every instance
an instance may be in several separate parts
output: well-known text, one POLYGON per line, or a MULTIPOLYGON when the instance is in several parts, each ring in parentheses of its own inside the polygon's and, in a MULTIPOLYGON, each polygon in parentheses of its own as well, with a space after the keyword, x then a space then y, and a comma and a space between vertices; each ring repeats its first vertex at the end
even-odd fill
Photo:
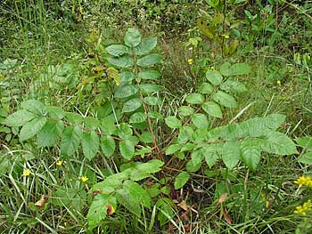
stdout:
POLYGON ((206 72, 208 83, 201 83, 199 93, 186 96, 187 106, 178 109, 179 117, 165 119, 168 127, 177 129, 177 138, 170 141, 166 154, 187 160, 186 172, 179 173, 176 178, 176 189, 187 182, 189 176, 185 173, 198 171, 203 162, 212 167, 221 160, 228 169, 242 162, 254 171, 259 165, 261 152, 275 155, 298 153, 291 139, 276 131, 285 120, 280 114, 211 127, 216 118, 223 117, 225 108, 237 107, 233 93, 247 90, 234 77, 250 73, 250 67, 245 63, 231 65, 226 62, 220 69, 221 72, 211 69, 206 72))

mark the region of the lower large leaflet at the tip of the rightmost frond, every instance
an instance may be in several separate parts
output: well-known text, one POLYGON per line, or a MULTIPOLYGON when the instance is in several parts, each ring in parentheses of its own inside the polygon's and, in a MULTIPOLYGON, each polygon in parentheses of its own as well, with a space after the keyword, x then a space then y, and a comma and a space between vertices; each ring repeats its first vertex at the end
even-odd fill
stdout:
POLYGON ((298 154, 296 145, 283 133, 267 131, 265 141, 262 141, 261 149, 277 155, 298 154))

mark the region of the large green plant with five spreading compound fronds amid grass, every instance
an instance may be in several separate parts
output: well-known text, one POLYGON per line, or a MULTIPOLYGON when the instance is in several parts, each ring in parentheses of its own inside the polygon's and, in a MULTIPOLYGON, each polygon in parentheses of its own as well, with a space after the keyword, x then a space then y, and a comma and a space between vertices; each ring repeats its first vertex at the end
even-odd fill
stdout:
POLYGON ((160 72, 154 69, 161 56, 152 52, 156 45, 156 37, 142 38, 137 29, 129 28, 124 44, 106 48, 110 54, 107 72, 113 74, 106 79, 109 88, 101 115, 85 117, 28 100, 22 101, 21 108, 4 121, 7 126, 21 129, 20 141, 33 141, 37 136, 37 147, 58 147, 64 158, 121 157, 128 162, 89 190, 93 198, 86 216, 89 230, 101 226, 119 206, 137 216, 143 208, 157 207, 160 225, 165 223, 174 214, 168 208, 170 200, 160 198, 159 190, 152 194, 144 186, 144 180, 161 179, 152 174, 164 170, 162 165, 168 163, 164 155, 185 161, 181 164, 185 170, 175 179, 177 190, 201 166, 213 167, 223 161, 229 170, 238 164, 256 170, 261 152, 297 153, 291 139, 277 131, 285 120, 283 115, 220 125, 226 123, 225 110, 237 107, 235 93, 246 90, 237 81, 237 77, 250 72, 245 63, 226 62, 219 71, 209 69, 205 82, 186 96, 177 116, 163 117, 162 87, 157 85, 160 72), (222 122, 218 121, 221 119, 222 122), (162 140, 169 140, 160 144, 158 131, 166 125, 169 129, 161 133, 168 135, 162 136, 162 140))

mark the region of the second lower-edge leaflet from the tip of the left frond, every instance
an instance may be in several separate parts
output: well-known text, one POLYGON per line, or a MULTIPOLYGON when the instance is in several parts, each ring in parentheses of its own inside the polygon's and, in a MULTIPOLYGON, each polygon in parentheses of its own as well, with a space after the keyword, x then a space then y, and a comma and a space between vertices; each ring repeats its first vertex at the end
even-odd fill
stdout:
POLYGON ((50 147, 59 140, 64 123, 62 121, 53 121, 48 119, 44 127, 37 134, 38 147, 50 147))

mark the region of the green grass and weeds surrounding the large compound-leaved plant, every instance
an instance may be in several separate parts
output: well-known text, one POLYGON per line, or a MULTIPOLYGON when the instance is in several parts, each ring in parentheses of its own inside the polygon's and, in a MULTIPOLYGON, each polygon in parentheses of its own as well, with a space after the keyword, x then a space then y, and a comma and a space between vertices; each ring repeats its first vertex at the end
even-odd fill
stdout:
MULTIPOLYGON (((106 19, 101 19, 103 16, 101 11, 105 11, 101 9, 101 4, 85 5, 84 10, 92 12, 92 16, 86 17, 81 22, 75 21, 77 15, 71 15, 73 6, 65 5, 63 11, 65 16, 58 19, 55 11, 49 8, 57 6, 57 3, 47 7, 42 1, 35 2, 36 4, 31 6, 27 1, 22 1, 24 5, 4 3, 6 7, 0 18, 0 22, 3 22, 0 28, 2 36, 0 52, 3 58, 0 62, 10 58, 17 59, 17 64, 12 69, 0 69, 3 75, 0 77, 1 107, 11 113, 21 101, 37 98, 85 114, 90 106, 95 104, 96 95, 92 93, 92 89, 86 93, 78 93, 73 88, 75 85, 72 87, 67 84, 49 85, 52 80, 45 77, 49 74, 47 72, 49 66, 73 62, 78 70, 76 76, 87 77, 88 69, 94 66, 92 63, 87 64, 89 57, 99 56, 101 59, 103 56, 99 53, 99 48, 96 48, 99 46, 97 42, 100 37, 93 41, 94 38, 90 39, 91 31, 98 30, 98 36, 102 36, 104 47, 121 41, 121 35, 128 27, 135 26, 135 20, 125 20, 128 17, 127 8, 123 8, 124 12, 120 15, 110 12, 106 19), (111 20, 111 24, 110 19, 114 19, 111 20), (5 88, 4 83, 8 83, 9 88, 5 88)), ((132 7, 132 10, 135 7, 141 9, 139 4, 132 7)), ((191 4, 191 7, 194 5, 191 4)), ((250 5, 250 7, 255 6, 250 5)), ((310 17, 308 10, 305 15, 310 17)), ((257 8, 255 11, 257 12, 257 8)), ((187 19, 190 28, 194 28, 193 16, 189 17, 187 19)), ((242 43, 238 52, 229 58, 209 57, 205 66, 196 64, 197 61, 191 66, 187 60, 192 55, 195 55, 196 59, 203 59, 213 51, 207 52, 204 48, 200 48, 193 54, 188 51, 185 42, 193 35, 192 32, 187 32, 187 28, 178 29, 171 25, 172 30, 168 28, 168 31, 160 33, 161 27, 155 20, 147 19, 146 23, 136 20, 136 23, 145 29, 144 35, 156 35, 160 38, 158 50, 165 58, 160 68, 160 85, 166 89, 166 92, 162 93, 164 102, 161 110, 166 115, 177 113, 178 106, 185 100, 185 93, 191 93, 201 84, 203 68, 207 66, 218 68, 225 61, 247 61, 252 66, 251 75, 243 78, 248 92, 238 97, 240 105, 238 109, 226 112, 225 122, 234 119, 241 110, 248 107, 234 122, 241 122, 250 117, 267 116, 271 113, 283 113, 287 115, 283 132, 288 133, 291 138, 311 135, 312 92, 311 81, 307 78, 310 77, 311 67, 307 69, 292 61, 293 54, 290 51, 278 53, 276 49, 275 52, 267 52, 265 48, 267 46, 265 39, 269 39, 267 34, 261 35, 263 37, 255 34, 255 40, 259 36, 259 41, 250 42, 258 44, 259 48, 244 51, 242 43), (179 34, 179 30, 183 33, 179 34), (197 69, 196 66, 201 69, 197 69), (280 81, 280 85, 277 81, 280 81)), ((185 24, 185 21, 182 23, 185 24)), ((287 28, 291 31, 289 26, 287 28)), ((307 29, 298 27, 298 30, 300 35, 303 35, 307 29)), ((296 46, 302 46, 304 50, 310 48, 307 42, 304 44, 298 42, 296 46)), ((163 138, 165 141, 166 129, 159 129, 158 132, 160 139, 163 138)), ((105 159, 99 155, 93 161, 87 161, 85 157, 78 154, 66 160, 66 165, 57 166, 56 162, 61 157, 59 149, 37 149, 36 144, 31 141, 21 144, 14 137, 14 133, 12 140, 5 141, 7 134, 0 133, 2 146, 0 183, 3 188, 0 193, 0 233, 86 232, 86 214, 91 200, 86 191, 92 187, 96 179, 103 179, 111 173, 117 173, 122 160, 105 159), (30 168, 31 176, 22 177, 21 174, 26 167, 30 168), (84 175, 89 178, 85 183, 80 180, 84 175), (64 193, 67 196, 65 198, 69 199, 55 199, 53 194, 57 190, 60 197, 64 193), (38 210, 35 203, 40 200, 42 194, 46 194, 48 198, 43 207, 38 210)), ((188 182, 183 190, 174 191, 172 186, 168 186, 168 193, 161 194, 164 198, 177 200, 176 208, 173 209, 176 215, 168 219, 166 225, 160 226, 155 216, 156 212, 168 216, 166 211, 160 211, 159 207, 154 206, 152 210, 144 210, 141 218, 128 213, 127 209, 120 208, 104 221, 103 229, 94 231, 95 233, 177 233, 178 231, 180 233, 294 233, 297 226, 304 226, 302 221, 306 220, 308 223, 312 218, 311 214, 304 218, 293 214, 295 206, 299 206, 310 197, 308 191, 299 190, 293 184, 300 174, 310 173, 309 166, 299 164, 297 157, 263 155, 263 164, 259 165, 256 172, 250 172, 242 165, 229 172, 224 165, 219 164, 211 170, 193 173, 191 182, 188 182), (218 204, 219 196, 224 193, 228 194, 229 202, 218 204), (185 200, 193 211, 179 208, 177 204, 182 200, 185 200)), ((178 163, 166 166, 168 169, 162 172, 161 176, 168 178, 168 184, 172 184, 174 176, 184 167, 178 163)), ((300 230, 299 233, 308 233, 308 229, 304 232, 305 227, 301 227, 300 230)))

